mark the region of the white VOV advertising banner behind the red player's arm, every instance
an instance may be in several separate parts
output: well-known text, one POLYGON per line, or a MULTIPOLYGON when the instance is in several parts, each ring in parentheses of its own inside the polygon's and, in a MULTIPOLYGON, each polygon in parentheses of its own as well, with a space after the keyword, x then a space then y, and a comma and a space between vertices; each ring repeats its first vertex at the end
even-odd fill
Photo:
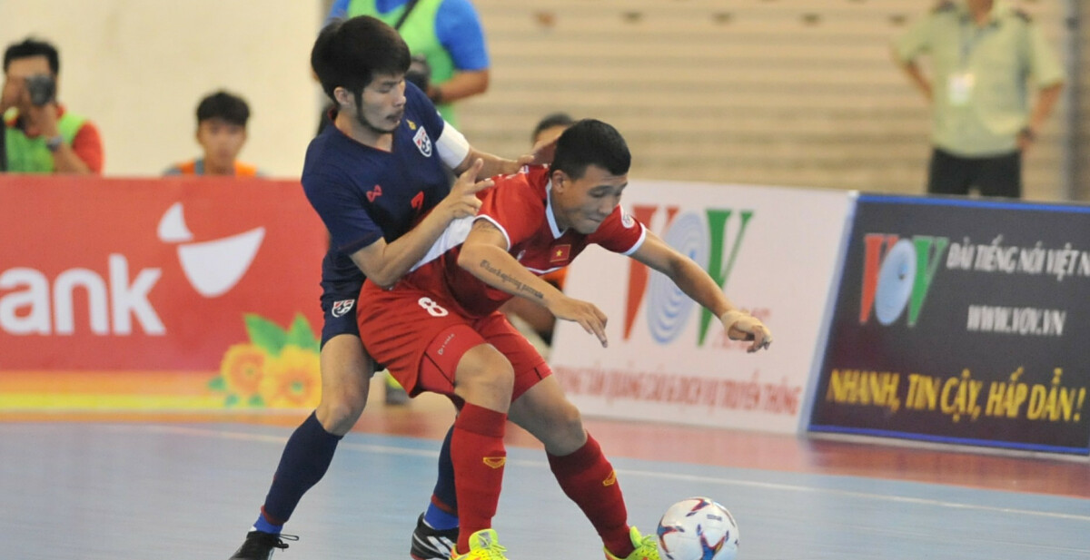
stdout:
POLYGON ((608 316, 608 348, 558 321, 549 363, 588 415, 795 433, 850 207, 841 191, 632 181, 621 202, 772 329, 746 352, 664 275, 590 247, 565 292, 608 316))

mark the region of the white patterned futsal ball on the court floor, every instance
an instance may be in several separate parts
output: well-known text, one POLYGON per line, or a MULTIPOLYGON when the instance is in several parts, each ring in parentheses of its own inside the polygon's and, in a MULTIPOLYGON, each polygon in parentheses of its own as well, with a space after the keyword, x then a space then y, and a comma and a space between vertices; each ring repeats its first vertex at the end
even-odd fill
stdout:
POLYGON ((658 522, 658 551, 669 560, 734 560, 738 523, 711 498, 681 500, 658 522))

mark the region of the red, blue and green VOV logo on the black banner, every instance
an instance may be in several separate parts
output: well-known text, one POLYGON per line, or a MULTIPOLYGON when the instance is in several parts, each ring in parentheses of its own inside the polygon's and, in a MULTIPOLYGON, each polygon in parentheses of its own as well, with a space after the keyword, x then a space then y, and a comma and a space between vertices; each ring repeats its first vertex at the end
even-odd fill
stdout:
POLYGON ((908 326, 915 327, 947 245, 948 238, 930 235, 911 239, 888 233, 863 235, 859 324, 867 325, 873 309, 879 322, 889 326, 907 307, 908 326))

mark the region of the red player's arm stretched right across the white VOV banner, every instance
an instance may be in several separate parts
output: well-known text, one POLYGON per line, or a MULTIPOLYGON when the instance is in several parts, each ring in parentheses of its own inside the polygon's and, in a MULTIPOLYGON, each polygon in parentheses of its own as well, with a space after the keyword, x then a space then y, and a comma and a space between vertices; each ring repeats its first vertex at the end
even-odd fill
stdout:
POLYGON ((756 317, 734 306, 707 272, 689 257, 667 245, 658 235, 647 232, 632 258, 666 275, 689 297, 715 314, 731 340, 750 340, 749 352, 772 344, 772 331, 756 317))

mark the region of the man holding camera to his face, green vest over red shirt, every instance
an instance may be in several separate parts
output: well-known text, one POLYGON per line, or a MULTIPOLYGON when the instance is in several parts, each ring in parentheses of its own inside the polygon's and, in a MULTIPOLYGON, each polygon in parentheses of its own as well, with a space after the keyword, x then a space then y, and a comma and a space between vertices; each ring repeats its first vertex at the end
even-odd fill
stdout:
POLYGON ((16 173, 101 173, 98 129, 57 102, 60 57, 52 45, 26 39, 3 56, 0 170, 16 173))

